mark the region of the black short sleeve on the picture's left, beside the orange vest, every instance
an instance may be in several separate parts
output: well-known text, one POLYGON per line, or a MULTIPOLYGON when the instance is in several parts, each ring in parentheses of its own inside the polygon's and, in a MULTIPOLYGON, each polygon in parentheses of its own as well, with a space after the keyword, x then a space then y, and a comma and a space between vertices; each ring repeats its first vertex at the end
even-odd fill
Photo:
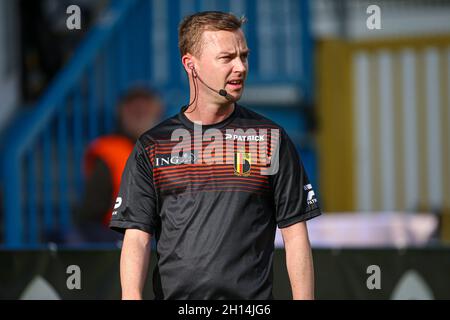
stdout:
POLYGON ((154 234, 157 221, 153 168, 138 140, 122 173, 119 195, 109 226, 121 233, 125 229, 139 229, 154 234))

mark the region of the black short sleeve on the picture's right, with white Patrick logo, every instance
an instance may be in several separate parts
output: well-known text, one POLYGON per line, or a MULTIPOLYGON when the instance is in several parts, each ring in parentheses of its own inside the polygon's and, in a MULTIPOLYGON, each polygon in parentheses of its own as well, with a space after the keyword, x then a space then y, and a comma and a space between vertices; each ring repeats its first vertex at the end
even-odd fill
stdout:
POLYGON ((306 221, 321 214, 303 163, 289 136, 281 130, 279 168, 272 176, 272 190, 279 228, 306 221))

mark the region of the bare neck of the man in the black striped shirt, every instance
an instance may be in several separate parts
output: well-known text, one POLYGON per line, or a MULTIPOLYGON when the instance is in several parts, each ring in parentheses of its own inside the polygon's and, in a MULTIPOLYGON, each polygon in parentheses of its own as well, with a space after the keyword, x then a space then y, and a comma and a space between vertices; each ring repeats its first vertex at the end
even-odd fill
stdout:
POLYGON ((219 123, 228 118, 234 111, 234 103, 218 105, 214 103, 194 103, 184 115, 192 122, 201 122, 202 125, 219 123))

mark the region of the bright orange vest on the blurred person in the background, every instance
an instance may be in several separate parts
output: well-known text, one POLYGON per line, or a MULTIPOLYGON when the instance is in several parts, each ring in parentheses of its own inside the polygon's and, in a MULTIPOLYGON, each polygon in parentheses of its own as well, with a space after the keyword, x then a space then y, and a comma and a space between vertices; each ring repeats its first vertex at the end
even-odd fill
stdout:
POLYGON ((133 143, 125 137, 119 135, 109 135, 99 137, 94 140, 85 154, 85 172, 89 177, 92 174, 95 160, 102 160, 109 169, 112 180, 112 199, 111 209, 105 212, 103 216, 103 224, 108 225, 112 215, 112 205, 119 194, 120 180, 125 164, 131 152, 133 151, 133 143))

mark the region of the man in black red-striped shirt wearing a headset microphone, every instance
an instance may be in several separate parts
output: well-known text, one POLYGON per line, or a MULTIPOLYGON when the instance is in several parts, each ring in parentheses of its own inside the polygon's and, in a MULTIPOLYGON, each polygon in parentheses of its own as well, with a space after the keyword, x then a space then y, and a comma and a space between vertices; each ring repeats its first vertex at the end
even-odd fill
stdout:
POLYGON ((202 12, 180 25, 190 103, 138 139, 110 223, 125 232, 123 299, 142 298, 151 237, 156 299, 272 299, 277 226, 293 298, 314 298, 305 221, 320 209, 286 132, 237 104, 248 71, 243 22, 202 12))

